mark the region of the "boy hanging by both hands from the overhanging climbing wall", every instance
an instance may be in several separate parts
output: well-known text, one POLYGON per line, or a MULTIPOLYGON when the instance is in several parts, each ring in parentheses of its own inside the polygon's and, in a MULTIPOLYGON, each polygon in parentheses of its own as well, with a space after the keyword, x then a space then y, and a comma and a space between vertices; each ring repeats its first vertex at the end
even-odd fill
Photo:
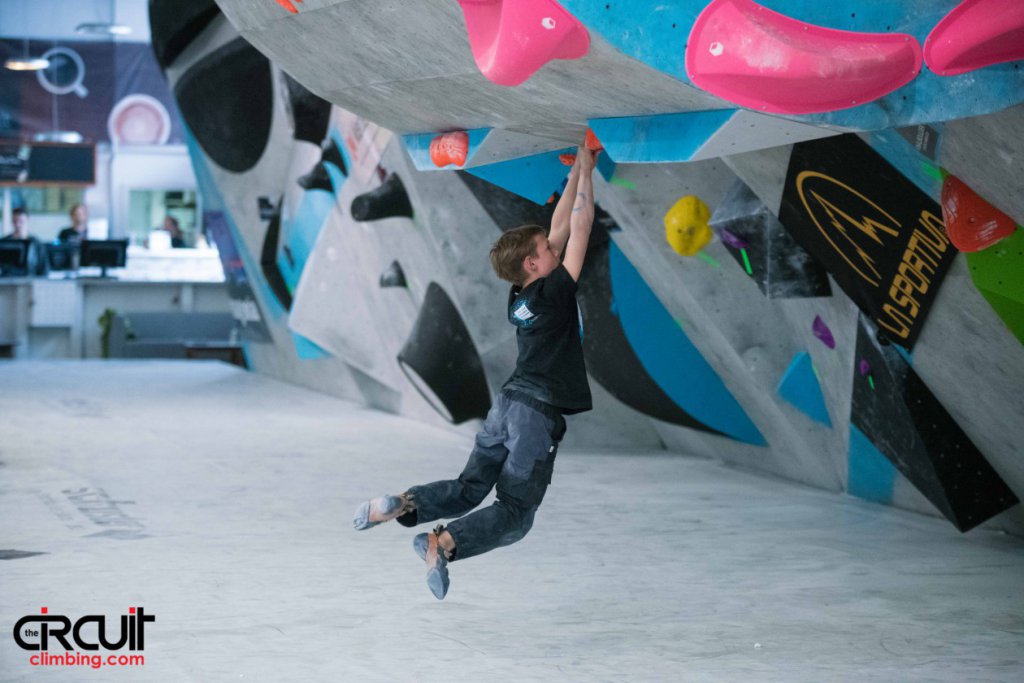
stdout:
POLYGON ((508 319, 516 327, 519 355, 462 474, 375 498, 355 511, 352 525, 358 530, 391 519, 415 526, 458 517, 413 540, 427 564, 427 586, 438 600, 447 593, 450 562, 526 535, 551 482, 565 434, 562 416, 591 409, 575 291, 594 221, 591 176, 597 154, 580 146, 550 233, 539 225, 517 227, 490 250, 498 276, 512 283, 508 319), (496 486, 493 505, 466 514, 496 486))

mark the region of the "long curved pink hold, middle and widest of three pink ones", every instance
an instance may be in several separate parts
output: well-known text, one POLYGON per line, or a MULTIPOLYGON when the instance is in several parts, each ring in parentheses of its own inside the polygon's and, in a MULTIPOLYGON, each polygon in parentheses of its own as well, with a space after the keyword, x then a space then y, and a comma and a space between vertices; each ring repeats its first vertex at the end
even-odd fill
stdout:
POLYGON ((695 85, 772 114, 863 104, 911 81, 921 63, 913 36, 825 29, 753 0, 713 0, 686 46, 686 75, 695 85))

